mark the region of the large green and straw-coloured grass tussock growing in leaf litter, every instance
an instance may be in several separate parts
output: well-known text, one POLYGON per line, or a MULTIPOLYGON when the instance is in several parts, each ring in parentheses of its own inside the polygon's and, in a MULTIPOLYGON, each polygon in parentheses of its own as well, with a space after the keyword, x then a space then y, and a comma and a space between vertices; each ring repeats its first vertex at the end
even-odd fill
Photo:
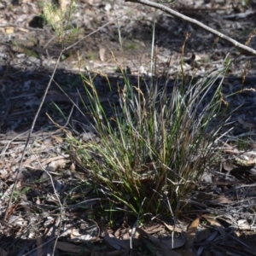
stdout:
POLYGON ((158 84, 142 90, 124 74, 119 106, 109 102, 112 118, 93 79, 84 78, 91 126, 101 141, 79 143, 72 137, 69 143, 90 180, 111 202, 105 210, 172 215, 182 207, 180 199, 195 189, 218 154, 214 145, 221 127, 216 125, 221 82, 216 81, 224 73, 225 67, 195 84, 177 81, 172 93, 158 84))

